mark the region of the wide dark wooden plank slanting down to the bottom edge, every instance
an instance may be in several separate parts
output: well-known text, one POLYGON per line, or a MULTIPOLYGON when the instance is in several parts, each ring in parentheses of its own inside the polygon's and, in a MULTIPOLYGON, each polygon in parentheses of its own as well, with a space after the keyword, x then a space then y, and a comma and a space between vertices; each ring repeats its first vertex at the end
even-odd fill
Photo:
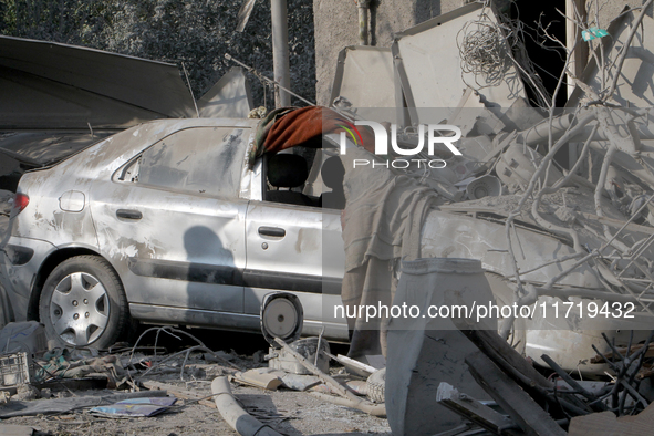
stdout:
POLYGON ((527 435, 564 436, 567 433, 516 382, 482 352, 466 357, 473 377, 518 423, 527 435))

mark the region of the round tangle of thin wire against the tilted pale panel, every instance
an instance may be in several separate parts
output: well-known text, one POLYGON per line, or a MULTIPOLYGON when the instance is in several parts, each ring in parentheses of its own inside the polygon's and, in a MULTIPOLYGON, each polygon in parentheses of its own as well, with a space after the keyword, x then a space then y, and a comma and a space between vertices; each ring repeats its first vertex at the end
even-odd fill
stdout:
POLYGON ((470 21, 459 31, 459 54, 464 73, 484 77, 481 87, 497 86, 505 79, 511 64, 507 55, 507 38, 499 25, 491 21, 470 21))

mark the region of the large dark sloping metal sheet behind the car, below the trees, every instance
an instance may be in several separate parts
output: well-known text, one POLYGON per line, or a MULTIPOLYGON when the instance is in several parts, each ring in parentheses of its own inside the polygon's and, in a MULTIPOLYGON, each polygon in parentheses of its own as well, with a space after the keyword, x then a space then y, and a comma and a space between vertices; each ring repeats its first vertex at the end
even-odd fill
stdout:
MULTIPOLYGON (((35 81, 30 86, 42 94, 51 89, 61 93, 62 85, 69 85, 131 105, 137 112, 145 110, 169 117, 195 114, 190 93, 173 64, 82 46, 0 37, 0 66, 6 75, 3 90, 11 89, 12 81, 7 80, 7 75, 13 75, 35 81)), ((39 103, 33 101, 38 98, 35 94, 28 94, 27 101, 15 100, 14 95, 11 102, 4 98, 4 91, 2 95, 0 107, 4 108, 4 116, 11 114, 8 108, 39 103)), ((61 95, 59 98, 66 100, 61 95)), ((83 108, 89 116, 87 107, 68 107, 69 112, 77 114, 83 108)))

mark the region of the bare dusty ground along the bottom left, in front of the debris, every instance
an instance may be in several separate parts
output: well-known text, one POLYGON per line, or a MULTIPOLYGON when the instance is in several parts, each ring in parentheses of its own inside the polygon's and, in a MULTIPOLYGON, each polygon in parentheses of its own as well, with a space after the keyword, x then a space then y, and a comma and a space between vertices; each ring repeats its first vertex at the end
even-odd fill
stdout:
MULTIPOLYGON (((210 381, 195 385, 198 393, 210 394, 210 381)), ((184 383, 178 383, 184 385, 184 383)), ((189 386, 191 387, 191 386, 189 386)), ((235 396, 251 414, 283 416, 268 424, 286 435, 391 435, 386 419, 335 406, 292 391, 272 392, 235 387, 235 396)), ((181 404, 181 402, 180 402, 181 404)), ((263 418, 261 418, 264 422, 263 418)), ((82 435, 238 435, 215 408, 191 404, 150 418, 107 419, 80 412, 60 417, 34 416, 4 419, 0 424, 28 425, 58 436, 82 435)))

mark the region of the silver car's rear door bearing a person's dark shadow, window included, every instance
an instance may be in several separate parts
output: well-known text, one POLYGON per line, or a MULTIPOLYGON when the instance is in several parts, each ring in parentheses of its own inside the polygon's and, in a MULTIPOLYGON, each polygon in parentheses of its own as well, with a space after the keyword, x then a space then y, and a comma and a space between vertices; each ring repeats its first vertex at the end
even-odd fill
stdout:
POLYGON ((248 201, 238 190, 248 135, 181 129, 92 187, 102 255, 118 270, 134 318, 239 325, 248 201))

